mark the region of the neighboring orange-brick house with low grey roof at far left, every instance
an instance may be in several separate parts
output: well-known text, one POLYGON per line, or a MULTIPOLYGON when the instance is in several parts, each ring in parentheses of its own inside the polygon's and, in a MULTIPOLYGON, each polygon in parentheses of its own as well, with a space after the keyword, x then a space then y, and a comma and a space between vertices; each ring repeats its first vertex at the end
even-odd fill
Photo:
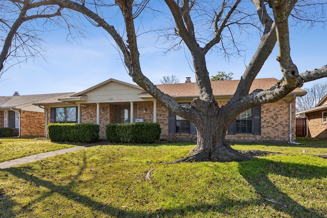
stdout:
POLYGON ((15 136, 44 136, 44 109, 33 103, 70 93, 0 96, 0 127, 14 128, 15 136))

